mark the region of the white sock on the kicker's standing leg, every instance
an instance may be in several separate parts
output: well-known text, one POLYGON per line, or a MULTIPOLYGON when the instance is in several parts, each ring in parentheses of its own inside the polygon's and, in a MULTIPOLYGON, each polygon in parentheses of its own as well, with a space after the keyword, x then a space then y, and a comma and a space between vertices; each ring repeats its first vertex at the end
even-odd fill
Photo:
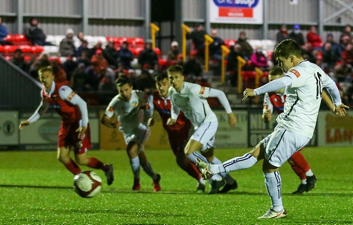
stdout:
POLYGON ((283 210, 282 195, 281 195, 281 176, 279 171, 264 173, 265 186, 268 195, 272 201, 272 208, 276 212, 283 210))

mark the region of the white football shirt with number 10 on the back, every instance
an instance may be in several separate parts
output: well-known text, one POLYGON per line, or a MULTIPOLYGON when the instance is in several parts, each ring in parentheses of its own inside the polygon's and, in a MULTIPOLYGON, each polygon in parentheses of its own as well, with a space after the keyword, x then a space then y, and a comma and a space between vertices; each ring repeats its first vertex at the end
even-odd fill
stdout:
POLYGON ((333 82, 316 64, 307 60, 288 70, 292 79, 287 87, 284 112, 277 122, 290 132, 312 138, 322 98, 322 88, 333 82))

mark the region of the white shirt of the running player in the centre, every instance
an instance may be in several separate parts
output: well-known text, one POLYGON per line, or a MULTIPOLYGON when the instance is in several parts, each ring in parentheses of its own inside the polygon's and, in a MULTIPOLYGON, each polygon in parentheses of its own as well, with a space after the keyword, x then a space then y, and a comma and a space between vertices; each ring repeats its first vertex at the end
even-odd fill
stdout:
POLYGON ((175 91, 174 87, 169 87, 170 103, 174 113, 179 115, 175 109, 183 111, 185 116, 192 122, 195 129, 203 122, 217 121, 216 115, 211 110, 206 100, 210 89, 210 87, 204 87, 189 82, 184 82, 180 93, 175 91))

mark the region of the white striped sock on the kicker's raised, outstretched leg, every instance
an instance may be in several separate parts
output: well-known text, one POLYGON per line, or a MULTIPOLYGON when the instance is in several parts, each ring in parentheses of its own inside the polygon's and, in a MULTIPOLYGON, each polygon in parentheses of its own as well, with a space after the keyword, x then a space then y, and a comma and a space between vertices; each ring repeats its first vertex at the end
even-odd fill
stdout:
MULTIPOLYGON (((223 162, 223 164, 219 164, 217 166, 218 166, 218 172, 222 173, 222 172, 236 171, 240 169, 247 169, 255 165, 255 163, 257 163, 257 159, 254 156, 250 155, 249 153, 246 153, 241 157, 229 159, 223 162)), ((213 169, 213 166, 212 166, 212 169, 213 169)), ((213 173, 212 169, 210 167, 210 171, 213 173)))

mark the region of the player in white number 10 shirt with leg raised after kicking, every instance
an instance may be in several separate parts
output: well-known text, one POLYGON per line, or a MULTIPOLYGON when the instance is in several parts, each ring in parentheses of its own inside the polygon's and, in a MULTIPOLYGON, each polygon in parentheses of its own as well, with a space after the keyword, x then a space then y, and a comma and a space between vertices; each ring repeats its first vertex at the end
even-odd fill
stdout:
POLYGON ((284 112, 277 117, 274 131, 255 148, 241 157, 232 158, 219 165, 209 165, 199 159, 197 165, 203 176, 211 177, 220 172, 246 169, 263 159, 262 170, 267 193, 271 198, 271 208, 259 218, 282 218, 287 215, 281 199, 281 177, 279 167, 289 157, 311 140, 322 98, 322 88, 330 94, 336 115, 344 116, 342 104, 335 82, 316 64, 304 60, 299 44, 293 40, 283 40, 274 50, 284 77, 273 80, 256 89, 246 89, 244 99, 273 92, 287 86, 284 112))

